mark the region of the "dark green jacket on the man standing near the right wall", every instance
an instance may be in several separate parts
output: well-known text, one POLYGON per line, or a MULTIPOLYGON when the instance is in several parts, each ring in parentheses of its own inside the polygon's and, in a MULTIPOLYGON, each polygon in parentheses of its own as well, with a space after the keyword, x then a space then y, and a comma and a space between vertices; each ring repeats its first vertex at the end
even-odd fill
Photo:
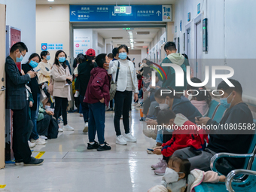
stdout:
MULTIPOLYGON (((162 66, 163 63, 172 63, 168 57, 163 59, 163 62, 161 63, 160 66, 162 66)), ((175 86, 175 70, 172 67, 163 67, 163 71, 166 72, 166 76, 162 73, 163 78, 161 75, 158 73, 158 78, 160 81, 163 81, 162 87, 172 87, 175 91, 183 91, 187 89, 187 77, 186 77, 186 66, 189 66, 187 59, 184 59, 183 64, 181 65, 181 68, 183 69, 184 72, 184 86, 183 87, 176 87, 175 86)))

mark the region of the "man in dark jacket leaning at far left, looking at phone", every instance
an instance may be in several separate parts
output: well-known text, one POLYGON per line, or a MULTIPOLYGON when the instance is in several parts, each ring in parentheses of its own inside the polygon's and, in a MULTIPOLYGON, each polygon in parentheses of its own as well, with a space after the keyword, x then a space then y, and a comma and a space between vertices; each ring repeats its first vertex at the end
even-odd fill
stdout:
POLYGON ((13 151, 15 163, 25 165, 40 165, 42 159, 31 157, 28 140, 29 121, 29 93, 25 84, 35 78, 37 72, 22 75, 15 62, 21 62, 28 48, 26 44, 18 42, 11 47, 10 55, 5 61, 6 72, 6 107, 14 111, 13 115, 13 151))

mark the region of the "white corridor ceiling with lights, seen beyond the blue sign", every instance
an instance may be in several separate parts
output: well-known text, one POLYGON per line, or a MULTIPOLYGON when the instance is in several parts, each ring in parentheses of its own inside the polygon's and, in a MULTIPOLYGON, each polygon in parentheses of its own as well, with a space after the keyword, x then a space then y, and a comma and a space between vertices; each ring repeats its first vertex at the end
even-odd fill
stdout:
POLYGON ((134 49, 142 49, 142 46, 147 46, 153 41, 155 35, 160 30, 160 28, 134 28, 132 30, 123 30, 123 29, 93 29, 98 32, 102 38, 111 39, 112 37, 123 37, 123 39, 112 39, 114 47, 118 47, 117 44, 126 44, 130 45, 130 35, 128 31, 133 32, 133 41, 134 41, 134 49), (148 35, 137 35, 137 32, 150 32, 148 35), (136 41, 144 41, 144 43, 136 43, 136 41))

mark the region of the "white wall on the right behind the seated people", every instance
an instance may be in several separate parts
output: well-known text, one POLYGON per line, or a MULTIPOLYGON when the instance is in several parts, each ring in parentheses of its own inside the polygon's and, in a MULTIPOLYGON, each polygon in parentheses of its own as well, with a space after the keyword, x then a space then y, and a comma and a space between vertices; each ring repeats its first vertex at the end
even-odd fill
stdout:
MULTIPOLYGON (((256 1, 254 0, 179 0, 175 3, 175 23, 177 32, 175 38, 180 38, 182 50, 185 26, 190 25, 191 58, 195 58, 195 31, 194 19, 198 16, 197 5, 201 4, 202 20, 208 18, 208 52, 201 54, 206 59, 207 66, 230 66, 234 69, 233 78, 242 84, 244 100, 256 103, 254 99, 256 89, 253 89, 256 71, 253 64, 256 54, 254 32, 256 30, 256 1), (190 24, 187 22, 187 13, 191 14, 190 24), (182 31, 180 32, 180 21, 182 31), (219 60, 213 60, 219 59, 219 60), (238 60, 240 59, 240 60, 238 60), (251 98, 249 99, 249 96, 251 98), (254 100, 254 101, 253 101, 254 100)), ((175 27, 174 27, 175 29, 175 27)), ((201 31, 202 32, 202 31, 201 31)), ((181 53, 183 53, 181 51, 181 53)), ((204 70, 204 66, 203 66, 204 70)), ((225 72, 221 72, 224 74, 225 72)), ((204 78, 204 75, 203 75, 204 78)), ((219 80, 221 81, 221 80, 219 80)), ((218 84, 219 81, 216 81, 218 84)), ((209 84, 210 85, 210 84, 209 84)))

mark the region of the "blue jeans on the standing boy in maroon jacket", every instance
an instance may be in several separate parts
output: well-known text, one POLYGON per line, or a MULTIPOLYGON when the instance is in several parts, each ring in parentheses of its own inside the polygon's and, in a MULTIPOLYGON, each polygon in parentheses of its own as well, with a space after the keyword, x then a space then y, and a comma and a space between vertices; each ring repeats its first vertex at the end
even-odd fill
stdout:
POLYGON ((94 142, 97 132, 99 144, 105 142, 105 103, 96 102, 88 104, 89 107, 89 142, 94 142))

